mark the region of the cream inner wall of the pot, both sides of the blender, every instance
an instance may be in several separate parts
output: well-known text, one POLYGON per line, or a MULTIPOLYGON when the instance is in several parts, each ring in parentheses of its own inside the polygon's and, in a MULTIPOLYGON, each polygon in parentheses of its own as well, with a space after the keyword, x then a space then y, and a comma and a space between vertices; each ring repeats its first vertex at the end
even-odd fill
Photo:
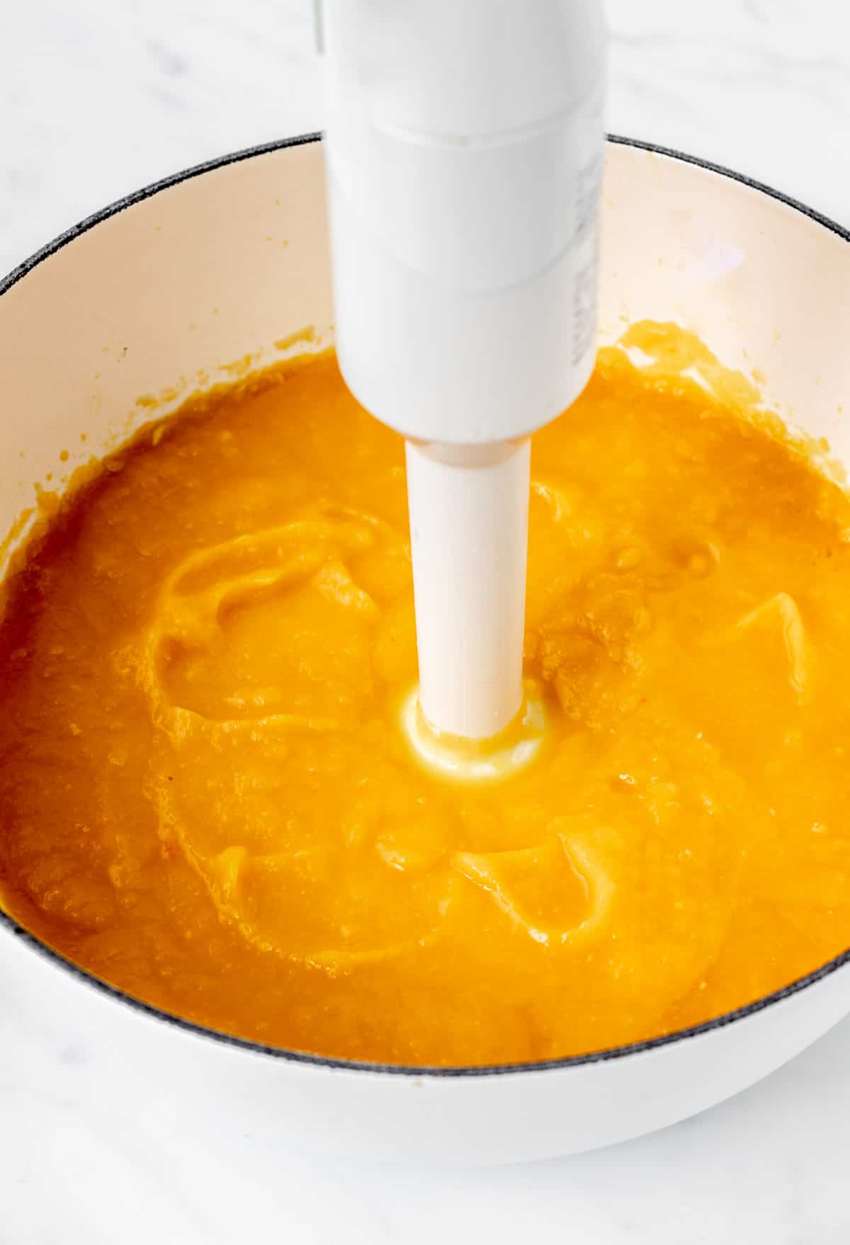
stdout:
MULTIPOLYGON (((154 411, 234 375, 222 365, 271 362, 307 325, 332 340, 326 248, 321 147, 307 143, 143 198, 12 285, 0 298, 0 533, 32 504, 36 482, 61 487, 154 411), (151 395, 156 407, 138 402, 151 395)), ((850 248, 804 214, 697 166, 609 144, 600 339, 645 317, 694 329, 724 364, 755 369, 769 402, 846 461, 849 289, 850 248)))

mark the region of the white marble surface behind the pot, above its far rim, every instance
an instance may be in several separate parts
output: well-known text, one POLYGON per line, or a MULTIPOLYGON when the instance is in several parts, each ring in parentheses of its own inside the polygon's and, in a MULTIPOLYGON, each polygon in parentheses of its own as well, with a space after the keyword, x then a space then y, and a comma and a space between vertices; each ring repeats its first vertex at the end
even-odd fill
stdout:
MULTIPOLYGON (((0 271, 128 190, 316 129, 310 0, 0 0, 0 271)), ((609 127, 850 222, 845 0, 609 0, 609 127)))

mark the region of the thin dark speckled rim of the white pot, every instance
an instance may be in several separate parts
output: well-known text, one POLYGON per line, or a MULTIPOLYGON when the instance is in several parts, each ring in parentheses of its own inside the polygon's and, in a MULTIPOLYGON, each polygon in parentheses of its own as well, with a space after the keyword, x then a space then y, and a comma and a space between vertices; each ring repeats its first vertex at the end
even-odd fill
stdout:
MULTIPOLYGON (((14 285, 17 284, 17 281, 22 280, 27 273, 31 273, 34 268, 37 268, 39 264, 44 263, 45 259, 55 255, 56 251, 67 247, 68 243, 72 243, 81 234, 87 233, 90 229, 93 229, 103 220, 108 220, 110 217, 117 215, 126 208, 132 208, 136 203, 149 199, 154 194, 159 194, 162 190, 167 190, 172 186, 178 186, 180 182, 185 182, 189 178, 200 177, 204 173, 210 173, 227 164, 236 164, 240 161, 253 159, 258 156, 266 156, 286 147, 300 147, 305 143, 316 143, 320 141, 321 134, 301 134, 295 138, 284 138, 276 142, 264 143, 260 147, 251 147, 246 151, 235 152, 231 156, 222 156, 220 158, 208 161, 204 164, 197 164, 182 173, 174 173, 172 177, 163 178, 161 182, 154 182, 152 186, 136 190, 133 194, 128 194, 126 198, 118 199, 117 203, 110 204, 110 207, 103 208, 101 212, 96 212, 93 215, 86 217, 85 220, 81 220, 71 229, 67 229, 65 233, 60 234, 58 238, 54 239, 54 242, 47 243, 47 245, 42 247, 41 250, 37 250, 29 259, 25 259, 22 264, 19 264, 17 268, 9 273, 7 276, 0 280, 0 296, 6 294, 14 285)), ((774 190, 769 186, 764 186, 762 182, 757 182, 750 177, 744 177, 742 173, 734 173, 732 169, 724 168, 722 164, 713 164, 709 161, 699 159, 696 156, 686 156, 682 152, 672 151, 668 147, 658 147, 655 143, 645 143, 635 138, 623 138, 619 134, 609 134, 609 142, 625 147, 636 147, 641 151, 652 152, 656 156, 665 156, 670 159, 682 161, 686 164, 694 164, 709 173, 716 173, 719 177, 739 182, 743 186, 749 187, 752 190, 757 190, 760 194, 765 194, 768 198, 783 203, 793 212, 799 212, 815 224, 821 225, 824 229, 829 229, 830 233, 838 234, 838 237, 844 242, 850 242, 850 230, 844 229, 834 220, 821 215, 819 212, 806 207, 804 203, 799 203, 796 199, 792 199, 789 195, 782 194, 779 190, 774 190)), ((734 1011, 724 1012, 722 1016, 716 1016, 713 1020, 706 1021, 702 1025, 693 1025, 691 1028, 677 1030, 676 1032, 665 1033, 661 1037, 653 1037, 645 1042, 631 1042, 627 1046, 614 1046, 602 1051, 590 1051, 586 1055, 571 1055, 566 1058, 545 1059, 538 1063, 499 1063, 485 1067, 406 1067, 403 1064, 366 1063, 353 1059, 329 1058, 321 1055, 309 1055, 302 1051, 289 1051, 278 1046, 264 1046, 260 1042, 250 1042, 241 1037, 233 1037, 229 1033, 222 1033, 218 1030, 208 1028, 204 1025, 195 1025, 192 1021, 183 1020, 182 1017, 174 1016, 173 1013, 163 1011, 159 1007, 153 1007, 151 1003, 146 1003, 142 1000, 126 994, 123 990, 111 986, 108 982, 102 981, 93 974, 87 972, 85 969, 81 969, 78 965, 66 959, 63 955, 60 955, 58 951, 52 950, 52 947, 47 946, 46 942, 35 937, 34 934, 30 934, 29 930, 25 930, 4 911, 0 911, 0 929, 4 929, 11 937, 20 940, 25 946, 30 947, 45 960, 52 961, 55 965, 63 969, 67 974, 76 977, 90 989, 97 990, 102 995, 123 1003, 133 1011, 149 1016, 161 1023, 184 1030, 187 1033, 194 1033, 200 1038, 205 1038, 223 1046, 230 1046, 238 1051, 246 1051, 254 1056, 263 1056, 271 1059, 284 1059, 287 1063, 348 1072, 382 1073, 397 1077, 488 1077, 529 1072, 550 1072, 563 1068, 584 1067, 590 1063, 604 1063, 609 1059, 622 1059, 630 1055, 642 1055, 648 1051, 660 1050, 665 1046, 671 1046, 673 1042, 682 1042, 688 1037, 697 1037, 701 1033, 711 1033, 714 1030, 726 1028, 727 1025, 734 1025, 737 1021, 744 1020, 748 1016, 755 1016, 758 1012, 772 1007, 783 998, 790 998, 801 990, 815 985, 815 982, 823 981, 824 977, 828 977, 838 969, 844 967, 844 965, 850 961, 850 949, 848 949, 841 952, 841 955, 836 955, 833 960, 829 960, 819 969, 815 969, 814 972, 809 972, 804 977, 798 977, 796 981, 792 981, 782 990, 775 990, 773 994, 764 995, 762 998, 757 998, 745 1007, 738 1007, 734 1011)))

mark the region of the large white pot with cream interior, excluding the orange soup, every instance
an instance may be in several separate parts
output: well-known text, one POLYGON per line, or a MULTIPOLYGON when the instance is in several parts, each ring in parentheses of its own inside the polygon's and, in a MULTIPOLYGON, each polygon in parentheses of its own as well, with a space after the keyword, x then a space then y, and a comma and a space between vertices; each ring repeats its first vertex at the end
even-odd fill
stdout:
MULTIPOLYGON (((609 143, 604 203, 602 340, 623 317, 693 327, 723 362, 758 369, 785 417, 850 463, 849 235, 723 169, 620 139, 609 143)), ((307 324, 330 334, 320 143, 259 148, 142 190, 58 238, 0 294, 5 532, 60 451, 73 467, 149 418, 141 395, 215 380, 245 354, 271 361, 273 344, 307 324)), ((604 1145, 719 1102, 850 1011, 848 957, 638 1046, 534 1067, 403 1069, 184 1023, 0 914, 4 1008, 25 1033, 50 1002, 68 1042, 97 1053, 88 1093, 103 1112, 122 1111, 132 1066, 169 1087, 199 1129, 458 1163, 604 1145)))

